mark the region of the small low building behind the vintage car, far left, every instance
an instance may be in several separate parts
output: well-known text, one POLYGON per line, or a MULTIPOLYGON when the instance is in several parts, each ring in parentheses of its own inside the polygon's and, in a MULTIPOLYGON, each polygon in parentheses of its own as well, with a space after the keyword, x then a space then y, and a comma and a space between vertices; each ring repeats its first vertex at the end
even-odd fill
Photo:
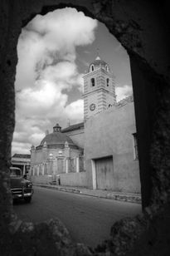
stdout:
POLYGON ((19 167, 22 170, 22 175, 29 172, 31 166, 31 155, 27 154, 14 154, 12 156, 12 166, 19 167))

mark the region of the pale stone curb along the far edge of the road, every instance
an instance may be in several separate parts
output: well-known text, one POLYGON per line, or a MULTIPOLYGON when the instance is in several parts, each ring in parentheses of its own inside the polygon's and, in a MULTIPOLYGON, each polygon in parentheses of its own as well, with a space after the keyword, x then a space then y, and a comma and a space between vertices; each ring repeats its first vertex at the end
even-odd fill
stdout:
POLYGON ((128 203, 141 204, 141 197, 139 195, 112 194, 112 193, 109 193, 106 195, 101 195, 101 194, 97 195, 97 194, 83 193, 81 190, 77 190, 77 189, 62 188, 62 187, 60 188, 60 187, 56 187, 55 185, 41 185, 41 184, 33 184, 33 185, 50 189, 50 190, 58 190, 58 191, 63 191, 68 193, 84 194, 84 195, 93 196, 97 198, 112 199, 116 201, 124 201, 128 203))

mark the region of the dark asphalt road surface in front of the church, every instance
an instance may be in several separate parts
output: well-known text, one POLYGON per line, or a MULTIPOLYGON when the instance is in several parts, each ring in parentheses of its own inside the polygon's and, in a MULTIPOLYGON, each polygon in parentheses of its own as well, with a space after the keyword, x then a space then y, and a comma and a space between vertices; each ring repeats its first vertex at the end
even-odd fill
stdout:
POLYGON ((59 218, 66 225, 74 242, 92 248, 104 239, 116 220, 141 213, 140 204, 100 199, 82 194, 34 187, 31 204, 13 205, 20 219, 41 222, 59 218))

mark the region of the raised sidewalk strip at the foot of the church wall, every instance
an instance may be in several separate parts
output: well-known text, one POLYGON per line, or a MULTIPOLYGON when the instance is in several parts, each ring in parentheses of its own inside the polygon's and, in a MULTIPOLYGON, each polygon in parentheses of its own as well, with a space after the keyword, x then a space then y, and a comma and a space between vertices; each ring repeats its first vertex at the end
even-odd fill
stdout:
POLYGON ((105 199, 114 199, 124 202, 130 202, 135 204, 141 204, 141 195, 140 194, 131 194, 131 193, 122 193, 114 192, 112 190, 90 190, 82 187, 70 187, 63 185, 46 185, 46 184, 33 184, 35 186, 40 186, 42 188, 47 188, 51 190, 60 190, 69 193, 75 194, 85 194, 89 196, 95 196, 105 199))

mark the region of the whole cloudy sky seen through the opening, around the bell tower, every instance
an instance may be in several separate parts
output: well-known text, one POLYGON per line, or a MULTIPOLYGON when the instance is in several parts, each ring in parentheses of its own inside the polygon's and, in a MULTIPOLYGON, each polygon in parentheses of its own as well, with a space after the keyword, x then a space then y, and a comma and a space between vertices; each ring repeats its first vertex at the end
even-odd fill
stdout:
POLYGON ((83 80, 90 62, 107 62, 116 76, 118 101, 129 96, 129 57, 108 29, 74 8, 37 15, 17 44, 16 127, 12 155, 29 154, 45 130, 83 121, 83 80))

